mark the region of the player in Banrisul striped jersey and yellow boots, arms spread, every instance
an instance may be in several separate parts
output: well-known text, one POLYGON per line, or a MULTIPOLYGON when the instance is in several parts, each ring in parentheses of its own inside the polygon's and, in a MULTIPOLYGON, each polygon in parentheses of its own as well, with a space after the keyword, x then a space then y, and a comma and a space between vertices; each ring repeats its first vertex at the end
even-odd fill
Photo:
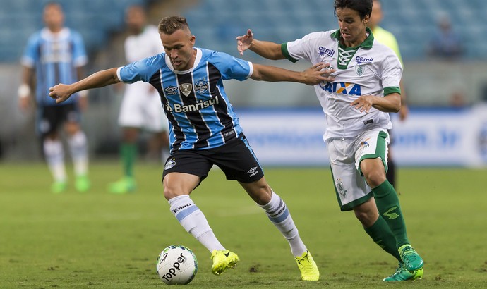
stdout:
POLYGON ((317 281, 320 273, 294 225, 284 201, 272 191, 264 177, 239 118, 223 87, 223 80, 291 81, 315 85, 332 80, 317 63, 303 72, 253 64, 233 56, 196 48, 186 19, 163 18, 159 24, 165 53, 121 68, 102 70, 72 85, 56 85, 51 97, 63 102, 80 90, 116 82, 149 82, 159 92, 170 123, 171 156, 163 173, 164 197, 181 226, 211 252, 212 272, 220 275, 234 268, 239 257, 227 250, 212 232, 203 212, 190 197, 219 166, 228 180, 237 180, 265 211, 270 221, 289 242, 301 271, 301 279, 317 281))

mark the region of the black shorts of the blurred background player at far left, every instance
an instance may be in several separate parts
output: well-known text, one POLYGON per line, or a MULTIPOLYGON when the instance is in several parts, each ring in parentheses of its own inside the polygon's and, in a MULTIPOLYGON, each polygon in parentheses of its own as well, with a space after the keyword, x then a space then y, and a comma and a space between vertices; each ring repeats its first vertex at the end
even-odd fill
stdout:
POLYGON ((81 119, 76 104, 40 106, 37 113, 37 133, 42 137, 56 132, 66 121, 79 123, 81 119))

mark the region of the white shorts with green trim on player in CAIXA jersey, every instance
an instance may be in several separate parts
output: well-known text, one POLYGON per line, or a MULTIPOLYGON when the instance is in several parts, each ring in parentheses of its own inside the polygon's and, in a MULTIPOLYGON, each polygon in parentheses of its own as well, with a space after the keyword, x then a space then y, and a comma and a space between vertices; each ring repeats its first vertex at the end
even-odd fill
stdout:
POLYGON ((387 144, 387 130, 368 130, 356 138, 327 140, 333 183, 342 211, 350 211, 373 197, 361 173, 360 162, 380 158, 387 171, 387 144))

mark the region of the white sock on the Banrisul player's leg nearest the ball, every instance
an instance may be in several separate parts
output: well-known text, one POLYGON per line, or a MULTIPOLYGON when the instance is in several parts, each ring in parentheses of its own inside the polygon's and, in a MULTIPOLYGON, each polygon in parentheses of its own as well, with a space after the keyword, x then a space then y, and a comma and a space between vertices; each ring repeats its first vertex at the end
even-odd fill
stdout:
POLYGON ((206 249, 210 252, 225 249, 217 240, 205 215, 196 207, 189 195, 181 195, 169 199, 169 206, 171 206, 171 212, 181 223, 181 226, 188 233, 191 233, 206 249))

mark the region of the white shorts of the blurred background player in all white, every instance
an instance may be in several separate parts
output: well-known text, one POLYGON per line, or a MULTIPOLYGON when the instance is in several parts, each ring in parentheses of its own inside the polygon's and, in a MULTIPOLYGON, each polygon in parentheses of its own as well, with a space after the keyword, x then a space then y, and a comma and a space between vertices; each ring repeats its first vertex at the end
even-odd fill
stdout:
POLYGON ((144 128, 151 132, 169 131, 169 123, 157 90, 145 82, 126 85, 120 107, 119 125, 144 128))

